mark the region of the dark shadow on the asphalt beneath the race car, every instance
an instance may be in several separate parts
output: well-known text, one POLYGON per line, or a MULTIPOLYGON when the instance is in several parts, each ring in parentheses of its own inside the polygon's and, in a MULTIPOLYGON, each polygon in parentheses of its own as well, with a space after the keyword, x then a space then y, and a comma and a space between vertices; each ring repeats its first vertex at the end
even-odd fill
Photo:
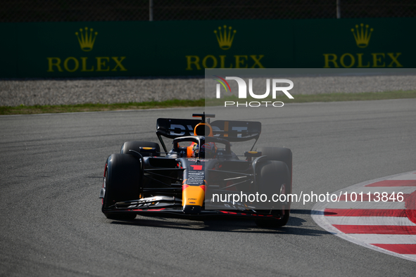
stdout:
POLYGON ((327 231, 322 231, 309 215, 310 210, 291 210, 291 217, 288 224, 281 228, 260 228, 256 226, 255 222, 251 219, 232 219, 224 217, 204 219, 202 221, 138 216, 134 220, 111 221, 111 224, 212 232, 279 233, 298 236, 322 236, 329 234, 327 231), (301 214, 301 217, 297 217, 295 214, 301 214), (308 218, 303 219, 303 217, 308 218))

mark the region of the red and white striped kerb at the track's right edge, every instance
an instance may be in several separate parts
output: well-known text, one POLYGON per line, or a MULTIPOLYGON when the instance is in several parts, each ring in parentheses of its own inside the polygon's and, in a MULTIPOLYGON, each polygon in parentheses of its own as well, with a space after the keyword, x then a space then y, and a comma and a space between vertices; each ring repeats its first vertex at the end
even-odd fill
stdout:
POLYGON ((319 202, 313 219, 358 245, 416 262, 416 171, 366 181, 319 202))

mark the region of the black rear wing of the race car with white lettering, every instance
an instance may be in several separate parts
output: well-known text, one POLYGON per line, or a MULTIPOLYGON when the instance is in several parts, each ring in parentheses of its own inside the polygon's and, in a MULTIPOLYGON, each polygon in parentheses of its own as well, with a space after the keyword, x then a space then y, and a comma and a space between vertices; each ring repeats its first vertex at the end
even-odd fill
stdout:
MULTIPOLYGON (((202 120, 183 120, 175 118, 158 118, 156 134, 163 149, 168 152, 161 136, 176 139, 180 136, 194 136, 196 124, 202 120)), ((261 123, 253 121, 215 120, 209 123, 213 128, 213 135, 227 141, 249 141, 260 137, 261 123)), ((256 142, 254 144, 256 144, 256 142)), ((254 147, 254 145, 253 145, 254 147)))

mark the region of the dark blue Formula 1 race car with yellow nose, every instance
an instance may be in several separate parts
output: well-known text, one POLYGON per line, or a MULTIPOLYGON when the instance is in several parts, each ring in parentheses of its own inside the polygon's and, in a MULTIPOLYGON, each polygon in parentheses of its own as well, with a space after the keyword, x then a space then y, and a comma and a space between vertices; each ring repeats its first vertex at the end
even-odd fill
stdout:
POLYGON ((253 151, 260 122, 210 122, 159 118, 158 143, 127 141, 120 154, 106 161, 100 191, 108 219, 158 217, 241 217, 262 227, 279 227, 289 220, 292 153, 288 148, 253 151), (172 149, 165 146, 172 139, 172 149), (255 140, 251 150, 236 155, 231 142, 255 140), (260 195, 260 199, 258 199, 260 195), (238 199, 237 199, 238 198, 238 199))

